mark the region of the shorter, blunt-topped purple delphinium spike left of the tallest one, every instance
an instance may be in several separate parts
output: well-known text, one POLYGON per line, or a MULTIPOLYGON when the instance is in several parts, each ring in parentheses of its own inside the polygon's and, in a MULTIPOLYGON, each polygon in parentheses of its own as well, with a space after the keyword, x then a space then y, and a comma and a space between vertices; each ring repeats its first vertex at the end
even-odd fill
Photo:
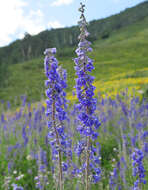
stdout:
MULTIPOLYGON (((66 72, 59 68, 58 61, 54 57, 56 48, 49 48, 45 50, 45 73, 48 80, 45 82, 46 96, 48 99, 46 115, 48 121, 48 138, 51 146, 52 161, 54 163, 53 171, 58 171, 59 189, 63 189, 63 174, 67 172, 69 163, 66 158, 70 154, 70 140, 65 132, 64 121, 67 118, 66 114, 66 93, 64 89, 66 85, 66 72), (67 151, 68 150, 68 151, 67 151), (65 161, 63 161, 63 156, 65 161), (58 169, 57 169, 58 166, 58 169)), ((54 172, 54 175, 55 175, 54 172)))

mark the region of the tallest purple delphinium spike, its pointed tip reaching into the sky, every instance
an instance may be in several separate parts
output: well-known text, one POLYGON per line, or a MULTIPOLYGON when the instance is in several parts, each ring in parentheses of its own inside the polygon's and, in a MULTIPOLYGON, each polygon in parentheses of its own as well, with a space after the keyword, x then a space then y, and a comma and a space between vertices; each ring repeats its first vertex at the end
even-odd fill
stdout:
POLYGON ((87 31, 87 22, 84 16, 84 7, 81 3, 79 11, 81 12, 79 44, 76 50, 77 58, 74 59, 76 70, 76 94, 79 100, 77 109, 79 110, 79 125, 77 130, 81 135, 81 140, 76 145, 75 151, 78 157, 82 157, 82 167, 78 169, 78 174, 85 173, 85 189, 90 189, 90 182, 97 183, 100 180, 100 167, 98 155, 96 154, 95 140, 98 138, 97 129, 100 122, 95 115, 96 99, 94 98, 93 86, 94 77, 89 74, 94 69, 93 60, 87 56, 92 51, 90 42, 86 40, 89 33, 87 31))

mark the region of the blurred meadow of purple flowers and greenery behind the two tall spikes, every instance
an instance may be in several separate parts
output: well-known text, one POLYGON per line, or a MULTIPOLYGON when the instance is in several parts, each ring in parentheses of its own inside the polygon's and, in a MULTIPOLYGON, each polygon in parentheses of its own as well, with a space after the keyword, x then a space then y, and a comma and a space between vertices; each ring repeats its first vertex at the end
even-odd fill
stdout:
MULTIPOLYGON (((3 106, 3 104, 2 104, 3 106)), ((24 189, 56 189, 52 176, 51 151, 47 138, 45 106, 30 104, 22 100, 22 106, 12 113, 9 108, 1 114, 0 121, 0 189, 12 189, 17 184, 24 189)), ((135 177, 132 175, 131 153, 139 147, 144 153, 145 179, 148 180, 148 103, 138 97, 129 97, 127 92, 114 99, 98 95, 97 115, 101 121, 97 151, 101 180, 93 184, 93 190, 131 189, 135 177)), ((75 120, 77 113, 68 111, 66 131, 77 136, 75 120)), ((76 139, 73 140, 73 147, 76 139)), ((79 160, 73 153, 73 161, 79 160)), ((81 176, 64 173, 64 189, 84 189, 81 176)), ((148 184, 142 190, 147 190, 148 184)))

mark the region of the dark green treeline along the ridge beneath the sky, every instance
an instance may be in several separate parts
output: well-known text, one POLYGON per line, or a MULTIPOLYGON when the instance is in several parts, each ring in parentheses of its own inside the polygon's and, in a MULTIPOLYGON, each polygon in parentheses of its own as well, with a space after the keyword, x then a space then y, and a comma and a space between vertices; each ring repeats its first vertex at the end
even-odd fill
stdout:
MULTIPOLYGON (((89 40, 93 42, 100 38, 109 38, 113 31, 138 22, 146 16, 148 16, 148 2, 128 8, 106 19, 91 21, 88 25, 91 34, 89 40)), ((78 35, 77 26, 46 30, 34 36, 26 33, 24 39, 0 48, 0 86, 4 84, 3 80, 7 75, 7 64, 40 57, 48 47, 56 47, 60 56, 69 56, 71 51, 68 48, 77 44, 78 35)))

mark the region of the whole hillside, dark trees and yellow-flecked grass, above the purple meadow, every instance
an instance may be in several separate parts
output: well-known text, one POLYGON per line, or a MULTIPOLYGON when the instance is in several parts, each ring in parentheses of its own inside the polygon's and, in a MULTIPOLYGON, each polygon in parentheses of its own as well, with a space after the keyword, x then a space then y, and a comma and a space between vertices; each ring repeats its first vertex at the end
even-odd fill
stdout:
MULTIPOLYGON (((146 92, 148 89, 148 2, 107 19, 92 21, 88 28, 91 33, 90 40, 93 42, 94 52, 91 56, 95 60, 94 75, 97 90, 102 94, 108 92, 112 95, 126 87, 130 90, 134 87, 139 92, 141 90, 146 92)), ((50 41, 52 32, 53 30, 44 31, 34 37, 27 35, 24 40, 16 41, 0 49, 0 99, 14 100, 16 96, 22 94, 26 94, 29 100, 41 99, 45 90, 41 55, 48 44, 57 46, 58 49, 62 45, 64 47, 62 51, 59 51, 58 59, 60 64, 67 69, 68 74, 70 73, 68 93, 69 97, 71 96, 70 92, 74 85, 72 58, 75 57, 74 49, 79 31, 77 27, 54 30, 54 35, 65 35, 67 43, 60 42, 59 39, 63 39, 62 36, 57 38, 58 42, 53 40, 50 43, 44 39, 41 40, 42 43, 38 41, 41 36, 46 36, 50 41), (73 39, 71 44, 68 44, 70 40, 65 32, 68 32, 73 39), (19 55, 20 46, 26 43, 25 47, 29 48, 27 42, 32 45, 31 40, 34 40, 34 47, 38 50, 31 49, 38 52, 32 51, 28 57, 19 55), (6 53, 8 55, 4 56, 6 53)))

